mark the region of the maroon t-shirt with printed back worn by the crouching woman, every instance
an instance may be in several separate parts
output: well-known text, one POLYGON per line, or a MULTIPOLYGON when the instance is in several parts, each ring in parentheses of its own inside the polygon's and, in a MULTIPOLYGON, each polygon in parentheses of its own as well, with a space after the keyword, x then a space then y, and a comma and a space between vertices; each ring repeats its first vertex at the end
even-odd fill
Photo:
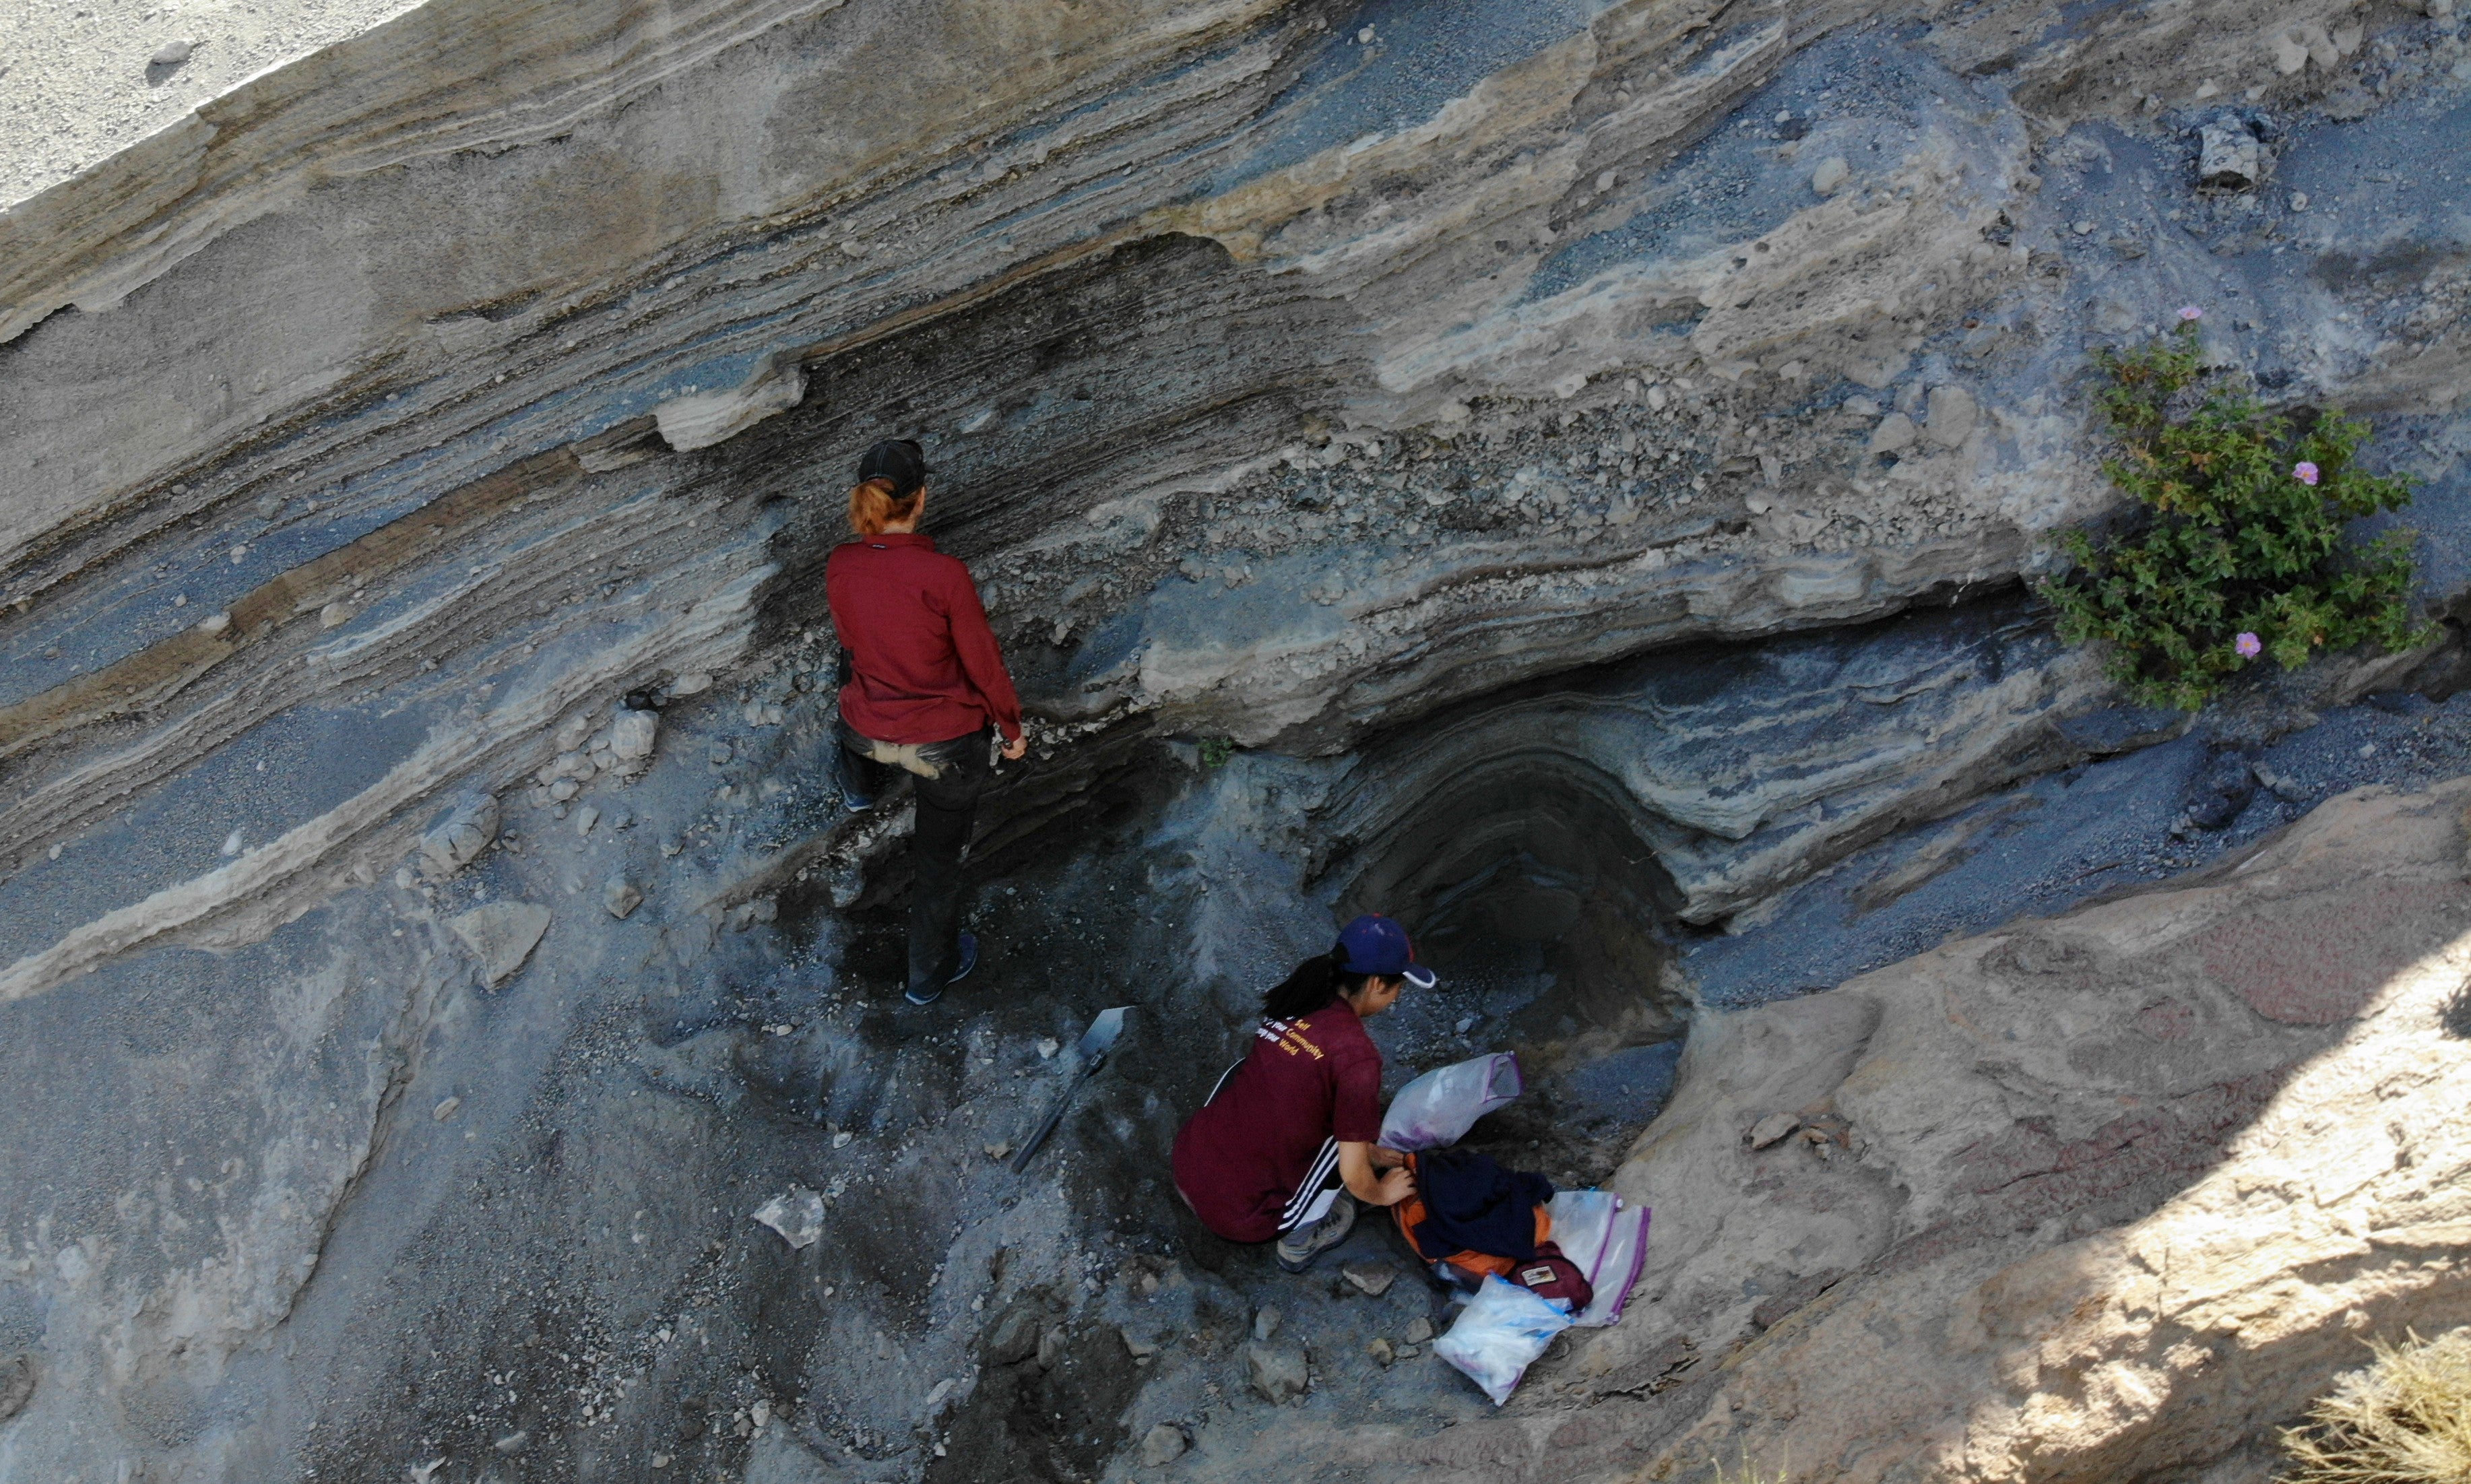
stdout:
POLYGON ((1176 1133, 1176 1188, 1228 1242, 1268 1242, 1327 1138, 1381 1138, 1381 1052, 1347 1000, 1260 1022, 1243 1064, 1176 1133))

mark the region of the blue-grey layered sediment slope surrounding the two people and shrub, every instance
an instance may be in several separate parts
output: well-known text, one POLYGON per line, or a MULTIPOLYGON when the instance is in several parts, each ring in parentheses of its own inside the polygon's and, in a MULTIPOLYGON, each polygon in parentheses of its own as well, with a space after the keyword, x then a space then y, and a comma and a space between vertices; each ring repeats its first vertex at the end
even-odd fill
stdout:
MULTIPOLYGON (((1159 1158, 1339 906, 1458 965, 1394 1077, 1522 1047, 1497 1148, 1584 1180, 1700 1005, 2471 765, 2355 706, 2451 640, 2189 731, 2019 583, 2108 501, 2086 348, 2189 304, 2377 420, 2454 617, 2441 15, 388 10, 67 7, 0 72, 5 1479, 1248 1467, 1250 1306, 1374 1309, 1201 1262, 1159 1158), (2266 178, 2199 193, 2224 119, 2266 178), (882 435, 1040 741, 941 1020, 825 731, 882 435), (1006 1175, 1112 1003, 1149 1049, 1006 1175)), ((1349 1365, 1300 1405, 1475 1417, 1349 1365)))

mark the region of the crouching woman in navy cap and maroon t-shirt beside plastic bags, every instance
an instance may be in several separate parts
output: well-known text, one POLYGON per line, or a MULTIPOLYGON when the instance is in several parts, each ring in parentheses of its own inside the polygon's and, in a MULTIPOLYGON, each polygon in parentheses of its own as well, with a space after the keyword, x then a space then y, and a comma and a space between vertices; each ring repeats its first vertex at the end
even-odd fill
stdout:
POLYGON ((1381 1138, 1381 1052, 1364 1020, 1433 988, 1406 928, 1379 914, 1260 998, 1253 1049, 1176 1133, 1176 1195, 1228 1242, 1278 1237, 1305 1272, 1357 1225, 1357 1200, 1399 1205, 1416 1178, 1381 1138), (1376 1175, 1374 1170, 1386 1170, 1376 1175))

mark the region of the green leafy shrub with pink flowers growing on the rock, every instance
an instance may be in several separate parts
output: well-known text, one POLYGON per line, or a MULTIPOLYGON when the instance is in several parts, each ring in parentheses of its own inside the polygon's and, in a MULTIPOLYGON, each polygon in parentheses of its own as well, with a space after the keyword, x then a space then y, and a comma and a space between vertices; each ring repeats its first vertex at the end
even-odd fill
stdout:
POLYGON ((2409 477, 2355 464, 2367 425, 2335 410, 2293 432, 2234 378, 2209 373, 2194 311, 2135 351, 2095 356, 2120 452, 2103 462, 2145 506, 2132 528, 2068 531, 2073 570, 2041 585, 2071 644, 2108 647, 2103 669, 2147 706, 2194 711, 2258 654, 2298 669, 2315 649, 2407 649, 2409 531, 2367 546, 2357 516, 2399 509, 2409 477))

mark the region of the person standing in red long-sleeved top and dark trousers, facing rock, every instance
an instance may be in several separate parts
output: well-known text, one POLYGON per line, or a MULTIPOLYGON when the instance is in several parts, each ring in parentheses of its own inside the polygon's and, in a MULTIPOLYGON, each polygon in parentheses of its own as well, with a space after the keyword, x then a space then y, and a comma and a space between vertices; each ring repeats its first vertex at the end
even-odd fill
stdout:
POLYGON ((959 558, 919 536, 927 457, 887 440, 857 462, 850 528, 857 541, 823 563, 823 593, 848 652, 840 686, 843 802, 875 805, 885 768, 917 775, 909 835, 909 1003, 934 1005, 979 965, 961 931, 961 847, 993 775, 986 731, 1003 756, 1028 751, 1021 701, 986 627, 979 585, 959 558))

